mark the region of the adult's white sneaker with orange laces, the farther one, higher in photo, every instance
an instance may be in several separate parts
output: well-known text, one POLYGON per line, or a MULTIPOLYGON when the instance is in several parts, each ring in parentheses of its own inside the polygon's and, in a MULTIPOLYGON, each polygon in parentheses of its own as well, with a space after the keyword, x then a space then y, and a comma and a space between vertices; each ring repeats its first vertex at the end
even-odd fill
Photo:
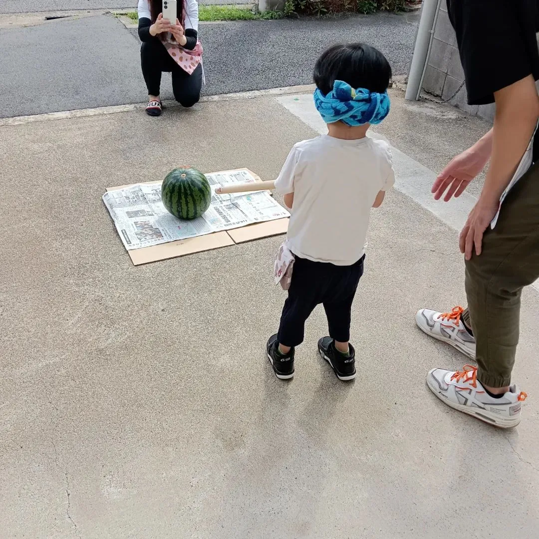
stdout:
POLYGON ((454 307, 451 313, 421 309, 416 314, 416 323, 427 335, 451 344, 462 354, 475 360, 475 338, 466 331, 460 319, 462 313, 462 307, 454 307))

